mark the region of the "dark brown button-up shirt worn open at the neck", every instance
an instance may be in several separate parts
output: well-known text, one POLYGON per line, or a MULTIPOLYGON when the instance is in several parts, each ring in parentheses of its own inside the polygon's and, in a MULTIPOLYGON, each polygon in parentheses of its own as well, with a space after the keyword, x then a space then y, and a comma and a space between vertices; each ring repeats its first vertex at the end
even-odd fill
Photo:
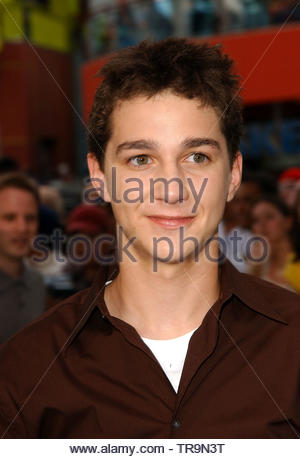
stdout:
POLYGON ((2 345, 3 438, 299 438, 300 297, 220 273, 178 393, 97 280, 2 345))

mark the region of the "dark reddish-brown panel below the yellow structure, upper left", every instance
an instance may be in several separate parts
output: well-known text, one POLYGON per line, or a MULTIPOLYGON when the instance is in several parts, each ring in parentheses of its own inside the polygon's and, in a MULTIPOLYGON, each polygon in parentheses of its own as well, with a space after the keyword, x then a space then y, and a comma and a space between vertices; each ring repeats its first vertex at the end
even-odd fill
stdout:
POLYGON ((5 44, 0 54, 0 141, 5 155, 35 170, 37 143, 57 139, 53 163, 74 164, 74 112, 70 56, 26 43, 5 44))

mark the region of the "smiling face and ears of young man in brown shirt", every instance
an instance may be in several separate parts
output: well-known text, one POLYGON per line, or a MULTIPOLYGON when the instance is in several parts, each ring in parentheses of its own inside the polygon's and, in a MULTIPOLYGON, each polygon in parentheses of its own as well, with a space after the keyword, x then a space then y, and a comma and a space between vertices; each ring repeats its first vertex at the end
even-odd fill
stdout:
POLYGON ((104 175, 92 155, 89 168, 92 178, 106 184, 105 199, 122 226, 123 246, 136 238, 130 252, 138 261, 169 256, 168 263, 177 263, 195 259, 194 243, 180 242, 180 227, 183 238, 196 238, 200 248, 217 232, 225 203, 240 183, 241 155, 230 170, 213 108, 164 92, 119 103, 112 114, 104 175), (168 195, 162 180, 151 183, 174 178, 168 195))

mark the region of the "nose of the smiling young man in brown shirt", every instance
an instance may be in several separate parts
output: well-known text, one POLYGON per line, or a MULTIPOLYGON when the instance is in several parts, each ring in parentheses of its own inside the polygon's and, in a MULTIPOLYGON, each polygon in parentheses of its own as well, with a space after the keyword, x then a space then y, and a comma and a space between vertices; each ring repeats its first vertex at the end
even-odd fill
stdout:
POLYGON ((188 198, 188 184, 179 166, 165 165, 150 179, 150 202, 162 200, 177 204, 188 198))

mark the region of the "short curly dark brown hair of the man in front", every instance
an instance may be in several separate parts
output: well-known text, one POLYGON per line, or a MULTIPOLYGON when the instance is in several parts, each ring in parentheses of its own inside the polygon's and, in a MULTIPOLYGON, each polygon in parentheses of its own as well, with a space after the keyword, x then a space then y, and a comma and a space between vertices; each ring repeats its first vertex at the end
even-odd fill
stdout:
POLYGON ((88 122, 88 148, 104 167, 104 152, 111 136, 111 114, 118 101, 154 96, 165 90, 213 107, 227 141, 230 164, 243 133, 239 77, 221 46, 185 38, 143 41, 112 56, 97 76, 98 87, 88 122))

